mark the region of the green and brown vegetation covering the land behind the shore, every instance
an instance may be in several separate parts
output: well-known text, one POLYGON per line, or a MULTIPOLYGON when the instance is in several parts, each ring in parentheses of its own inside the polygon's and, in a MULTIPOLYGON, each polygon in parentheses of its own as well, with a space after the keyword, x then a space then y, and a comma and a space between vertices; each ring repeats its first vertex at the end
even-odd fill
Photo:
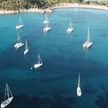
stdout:
POLYGON ((83 0, 0 0, 0 9, 20 10, 30 8, 47 8, 60 3, 95 3, 108 6, 108 2, 84 2, 83 0))

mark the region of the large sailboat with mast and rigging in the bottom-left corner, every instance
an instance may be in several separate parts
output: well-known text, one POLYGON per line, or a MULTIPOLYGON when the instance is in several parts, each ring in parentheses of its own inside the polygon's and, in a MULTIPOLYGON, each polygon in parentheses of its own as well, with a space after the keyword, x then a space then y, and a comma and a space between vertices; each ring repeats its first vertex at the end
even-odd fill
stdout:
POLYGON ((3 102, 1 102, 1 108, 5 108, 6 106, 8 106, 11 101, 13 100, 13 94, 8 86, 8 84, 6 83, 6 87, 5 87, 5 99, 3 102))

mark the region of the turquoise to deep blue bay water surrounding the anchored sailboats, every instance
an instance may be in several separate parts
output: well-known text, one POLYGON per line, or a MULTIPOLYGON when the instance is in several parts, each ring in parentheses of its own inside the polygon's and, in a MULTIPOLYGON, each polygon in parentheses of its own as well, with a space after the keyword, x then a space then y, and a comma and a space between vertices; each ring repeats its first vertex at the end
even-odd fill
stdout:
POLYGON ((52 30, 43 32, 44 14, 23 13, 29 53, 14 49, 18 14, 0 16, 0 100, 8 82, 14 100, 8 108, 108 108, 108 11, 56 9, 49 14, 52 30), (74 32, 66 33, 70 19, 74 32), (94 45, 82 47, 88 26, 94 45), (44 65, 30 69, 40 54, 44 65), (82 96, 77 97, 81 75, 82 96))

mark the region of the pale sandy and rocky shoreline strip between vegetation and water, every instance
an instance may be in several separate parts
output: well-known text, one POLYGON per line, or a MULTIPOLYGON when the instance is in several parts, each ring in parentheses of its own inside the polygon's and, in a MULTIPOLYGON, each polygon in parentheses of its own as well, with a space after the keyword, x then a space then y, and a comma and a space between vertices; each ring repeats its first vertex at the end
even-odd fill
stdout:
POLYGON ((14 10, 0 10, 0 14, 15 14, 15 13, 23 13, 23 12, 36 12, 36 13, 52 13, 54 9, 57 8, 85 8, 85 9, 102 9, 102 10, 108 10, 108 7, 104 5, 96 5, 96 4, 80 4, 80 3, 62 3, 58 4, 56 6, 47 8, 47 9, 21 9, 20 11, 14 11, 14 10))

